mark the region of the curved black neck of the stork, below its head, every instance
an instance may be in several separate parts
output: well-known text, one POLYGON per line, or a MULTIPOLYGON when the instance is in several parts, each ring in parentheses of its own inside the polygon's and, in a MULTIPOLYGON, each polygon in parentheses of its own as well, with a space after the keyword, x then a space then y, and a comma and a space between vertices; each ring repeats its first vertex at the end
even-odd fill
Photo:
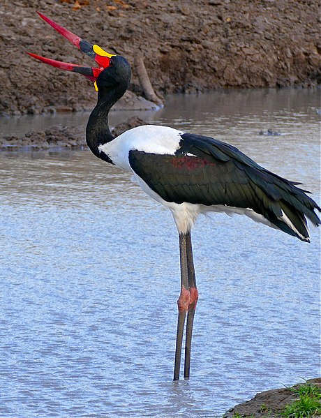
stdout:
POLYGON ((114 103, 124 95, 125 91, 124 88, 98 91, 97 105, 91 112, 87 123, 86 141, 88 147, 96 157, 108 163, 112 161, 104 153, 100 153, 98 147, 114 139, 108 126, 108 113, 114 103))

